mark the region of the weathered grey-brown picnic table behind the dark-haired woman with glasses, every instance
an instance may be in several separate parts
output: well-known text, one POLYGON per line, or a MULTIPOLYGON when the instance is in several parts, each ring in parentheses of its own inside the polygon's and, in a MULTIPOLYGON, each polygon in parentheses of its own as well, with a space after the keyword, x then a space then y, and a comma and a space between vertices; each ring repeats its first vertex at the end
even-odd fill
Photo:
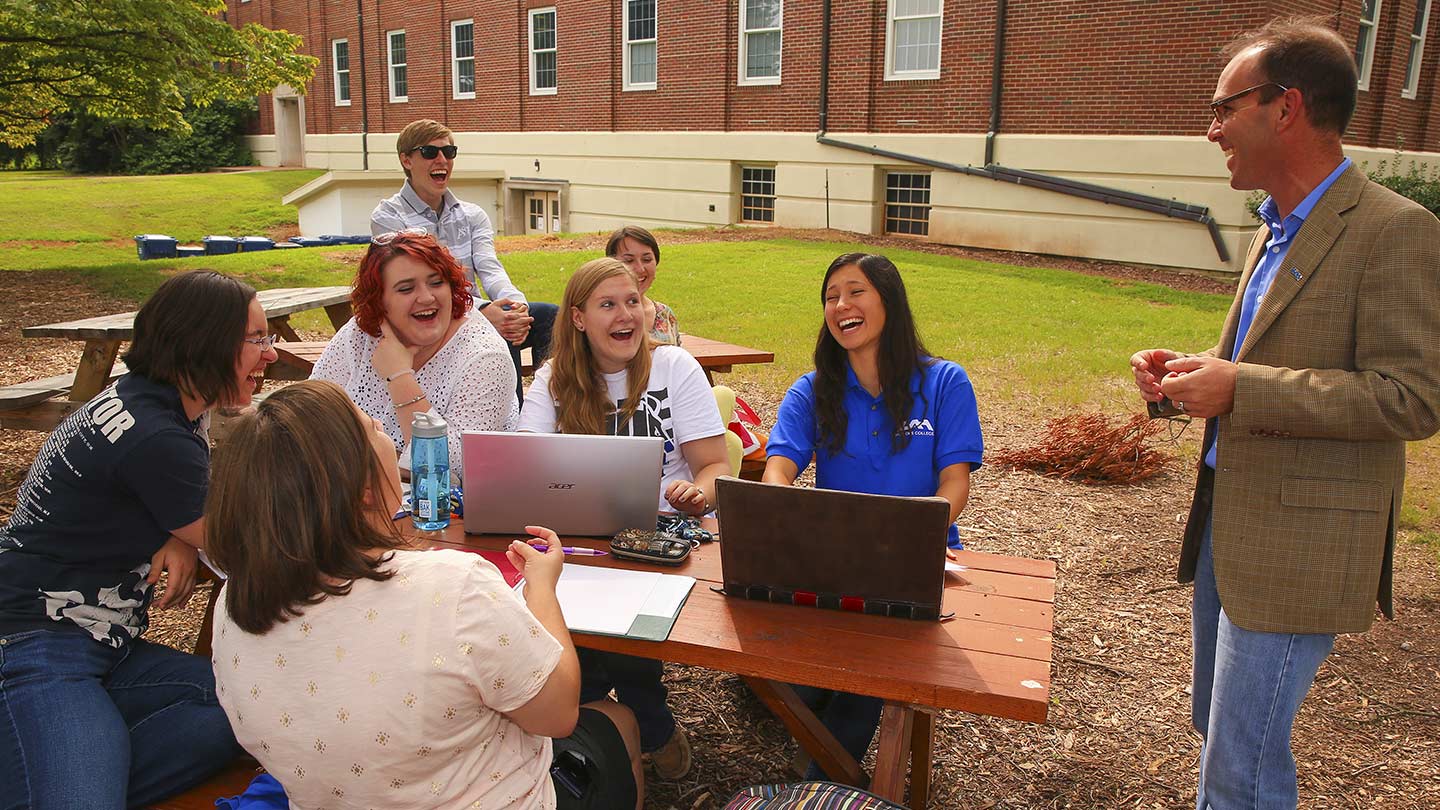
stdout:
MULTIPOLYGON (((298 342, 289 316, 324 308, 330 323, 340 329, 350 320, 348 287, 285 287, 256 294, 272 333, 298 342)), ((73 373, 29 383, 6 386, 0 396, 0 427, 49 431, 81 404, 101 392, 109 380, 124 373, 117 368, 120 344, 135 334, 135 313, 99 316, 66 323, 27 326, 23 337, 63 337, 84 340, 85 350, 73 373), (63 398, 63 399, 60 399, 63 398)))

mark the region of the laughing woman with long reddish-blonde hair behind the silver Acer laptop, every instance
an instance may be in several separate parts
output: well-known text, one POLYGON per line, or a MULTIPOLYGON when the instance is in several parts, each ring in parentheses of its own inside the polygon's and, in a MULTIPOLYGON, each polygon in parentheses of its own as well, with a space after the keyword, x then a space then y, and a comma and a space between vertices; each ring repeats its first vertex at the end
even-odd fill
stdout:
MULTIPOLYGON (((730 471, 720 408, 704 369, 677 346, 654 346, 635 274, 616 259, 580 265, 564 287, 550 359, 536 372, 520 430, 665 440, 660 510, 701 516, 730 471)), ((661 662, 580 651, 580 698, 613 687, 635 711, 641 748, 664 778, 690 770, 690 741, 665 705, 661 662)))

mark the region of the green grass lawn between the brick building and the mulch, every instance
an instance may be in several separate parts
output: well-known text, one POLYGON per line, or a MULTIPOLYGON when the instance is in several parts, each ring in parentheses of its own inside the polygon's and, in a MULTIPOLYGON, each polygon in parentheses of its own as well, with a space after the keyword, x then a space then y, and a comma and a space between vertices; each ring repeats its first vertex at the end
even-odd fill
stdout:
MULTIPOLYGON (((209 267, 256 287, 348 284, 363 248, 295 249, 138 261, 131 236, 264 233, 294 225, 279 203, 314 172, 168 177, 69 177, 0 172, 0 272, 72 271, 108 294, 144 300, 168 275, 209 267)), ((665 233, 660 233, 665 242, 665 233)), ((510 252, 501 259, 531 300, 559 301, 564 281, 596 251, 510 252)), ((863 245, 772 239, 675 244, 652 290, 681 327, 769 349, 775 363, 739 366, 734 379, 783 391, 809 370, 821 327, 819 280, 829 261, 863 245)), ((917 251, 887 251, 904 274, 930 350, 962 363, 988 414, 1034 424, 1099 408, 1139 408, 1128 359, 1151 346, 1198 350, 1220 331, 1230 295, 1011 267, 917 251)), ((3 275, 0 275, 3 278, 3 275)), ((102 314, 102 313, 96 313, 102 314)), ((325 330, 323 313, 295 319, 325 330)), ((1198 431, 1192 431, 1198 434, 1198 431)), ((1197 435, 1187 437, 1194 444, 1197 435)), ((1440 440, 1410 447, 1401 525, 1440 552, 1440 440)))

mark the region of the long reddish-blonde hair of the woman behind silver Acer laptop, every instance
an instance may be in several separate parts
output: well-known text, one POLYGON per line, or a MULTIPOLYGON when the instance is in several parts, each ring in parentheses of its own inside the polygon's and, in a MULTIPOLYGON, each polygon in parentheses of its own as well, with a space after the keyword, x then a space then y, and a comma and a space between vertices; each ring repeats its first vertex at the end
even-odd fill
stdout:
MULTIPOLYGON (((554 319, 550 337, 550 396, 556 401, 556 430, 563 434, 603 434, 605 417, 615 412, 605 378, 595 366, 595 353, 585 333, 575 327, 572 308, 583 310, 595 288, 606 280, 625 275, 635 282, 635 274, 612 258, 590 259, 580 265, 564 285, 560 314, 554 319)), ((629 422, 649 383, 649 353, 654 346, 648 331, 636 324, 641 347, 626 370, 625 406, 615 415, 616 427, 629 422)))

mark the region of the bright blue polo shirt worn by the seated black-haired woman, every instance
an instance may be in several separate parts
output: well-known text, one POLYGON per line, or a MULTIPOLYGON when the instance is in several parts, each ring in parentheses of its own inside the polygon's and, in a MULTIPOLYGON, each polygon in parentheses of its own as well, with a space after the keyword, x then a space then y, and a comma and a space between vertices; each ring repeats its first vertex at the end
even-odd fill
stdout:
MULTIPOLYGON (((909 444, 893 448, 894 421, 883 396, 871 396, 845 366, 845 445, 841 453, 819 447, 815 414, 815 372, 809 372, 785 393, 775 430, 766 447, 769 455, 795 463, 796 471, 815 455, 815 486, 827 490, 868 494, 930 497, 940 489, 940 470, 969 463, 979 468, 985 442, 975 391, 965 369, 949 360, 933 360, 910 378, 914 405, 904 425, 909 444)), ((948 542, 960 548, 952 525, 948 542)))

